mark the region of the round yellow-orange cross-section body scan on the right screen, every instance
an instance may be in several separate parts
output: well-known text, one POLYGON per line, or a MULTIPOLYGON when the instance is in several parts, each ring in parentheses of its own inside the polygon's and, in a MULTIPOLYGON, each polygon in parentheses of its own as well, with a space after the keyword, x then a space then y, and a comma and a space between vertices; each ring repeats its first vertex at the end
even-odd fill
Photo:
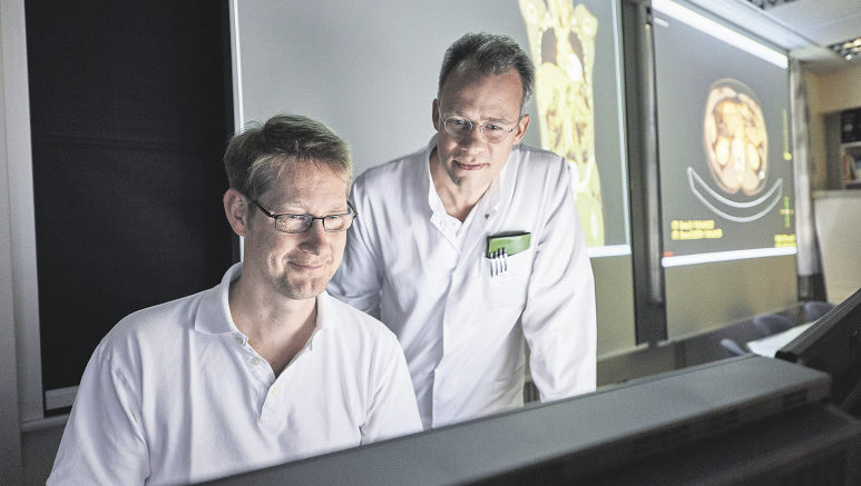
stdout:
POLYGON ((703 123, 708 169, 727 195, 753 196, 765 187, 769 137, 753 90, 741 81, 712 85, 703 123))

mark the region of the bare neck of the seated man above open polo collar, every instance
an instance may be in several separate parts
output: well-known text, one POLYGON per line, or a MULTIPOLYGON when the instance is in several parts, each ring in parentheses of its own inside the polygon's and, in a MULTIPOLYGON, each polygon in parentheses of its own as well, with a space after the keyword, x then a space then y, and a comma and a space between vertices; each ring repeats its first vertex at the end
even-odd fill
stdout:
POLYGON ((227 299, 234 324, 275 376, 286 368, 316 328, 316 298, 291 299, 254 285, 250 276, 231 284, 227 299))

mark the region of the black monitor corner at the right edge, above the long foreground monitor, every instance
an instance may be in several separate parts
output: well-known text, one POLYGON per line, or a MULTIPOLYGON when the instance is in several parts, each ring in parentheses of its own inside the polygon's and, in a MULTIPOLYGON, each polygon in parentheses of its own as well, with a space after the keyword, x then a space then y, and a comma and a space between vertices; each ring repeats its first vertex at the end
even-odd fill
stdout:
POLYGON ((831 375, 831 400, 861 416, 861 289, 775 355, 831 375))

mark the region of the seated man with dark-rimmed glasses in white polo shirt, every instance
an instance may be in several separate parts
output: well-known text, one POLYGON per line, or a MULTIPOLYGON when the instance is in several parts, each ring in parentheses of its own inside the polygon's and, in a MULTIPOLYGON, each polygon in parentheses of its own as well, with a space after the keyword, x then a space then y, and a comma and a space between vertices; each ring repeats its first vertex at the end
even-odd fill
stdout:
POLYGON ((243 262, 102 339, 49 484, 188 484, 421 430, 395 336, 325 292, 356 217, 346 143, 278 116, 224 162, 243 262))

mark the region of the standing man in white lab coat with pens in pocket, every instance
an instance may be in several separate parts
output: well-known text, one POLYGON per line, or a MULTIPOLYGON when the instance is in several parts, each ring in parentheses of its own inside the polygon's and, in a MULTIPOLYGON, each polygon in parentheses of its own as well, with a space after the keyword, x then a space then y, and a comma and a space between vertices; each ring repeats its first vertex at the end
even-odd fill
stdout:
POLYGON ((532 86, 513 40, 463 36, 442 62, 430 143, 353 186, 362 218, 329 291, 398 335, 425 428, 522 405, 525 340, 542 400, 595 389, 570 169, 519 145, 532 86))

